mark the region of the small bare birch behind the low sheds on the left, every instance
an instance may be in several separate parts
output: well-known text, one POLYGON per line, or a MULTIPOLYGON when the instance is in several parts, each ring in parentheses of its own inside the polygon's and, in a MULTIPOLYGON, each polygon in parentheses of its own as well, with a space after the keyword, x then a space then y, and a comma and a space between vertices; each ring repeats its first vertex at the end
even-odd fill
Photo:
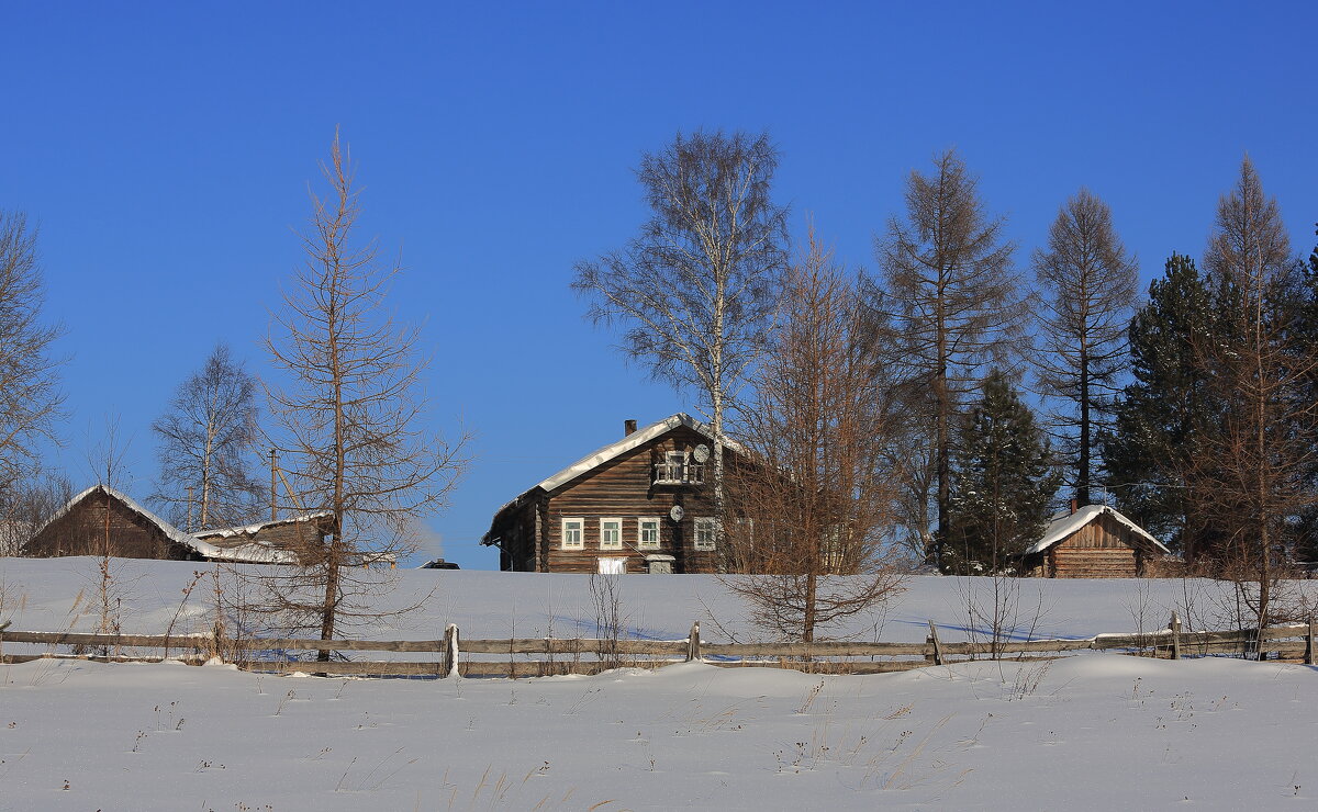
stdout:
POLYGON ((152 424, 161 441, 156 500, 190 533, 244 524, 262 507, 265 486, 252 471, 256 391, 256 378, 219 343, 152 424))

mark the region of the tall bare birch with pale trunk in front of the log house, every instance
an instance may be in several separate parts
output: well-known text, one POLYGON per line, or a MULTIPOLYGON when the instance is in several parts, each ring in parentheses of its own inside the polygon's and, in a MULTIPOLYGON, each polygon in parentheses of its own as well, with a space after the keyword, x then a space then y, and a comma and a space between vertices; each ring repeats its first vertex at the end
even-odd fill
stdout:
POLYGON ((689 387, 714 433, 713 496, 724 528, 726 416, 763 347, 784 265, 786 209, 767 134, 677 133, 637 170, 651 216, 623 249, 579 262, 587 317, 622 326, 622 349, 689 387))

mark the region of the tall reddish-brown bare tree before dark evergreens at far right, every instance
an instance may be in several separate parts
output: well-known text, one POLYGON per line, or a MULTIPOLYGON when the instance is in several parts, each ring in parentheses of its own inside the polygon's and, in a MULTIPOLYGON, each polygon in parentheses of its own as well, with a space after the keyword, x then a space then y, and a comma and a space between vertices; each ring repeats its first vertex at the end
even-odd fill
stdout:
POLYGON ((1195 351, 1222 415, 1194 469, 1198 491, 1213 495, 1198 509, 1224 538, 1224 571, 1264 626, 1281 615, 1276 588, 1290 561, 1288 522, 1315 501, 1306 475, 1318 409, 1305 386, 1318 347, 1294 336, 1300 311, 1289 293, 1298 262, 1248 157, 1235 190, 1218 203, 1205 266, 1220 286, 1223 325, 1201 336, 1195 351))

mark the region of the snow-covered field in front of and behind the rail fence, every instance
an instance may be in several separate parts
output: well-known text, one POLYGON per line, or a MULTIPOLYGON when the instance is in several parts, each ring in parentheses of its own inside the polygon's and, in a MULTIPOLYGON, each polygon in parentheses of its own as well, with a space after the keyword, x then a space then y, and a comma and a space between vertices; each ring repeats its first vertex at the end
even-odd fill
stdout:
MULTIPOLYGON (((127 562, 125 632, 159 633, 192 565, 127 562)), ((0 559, 0 620, 91 629, 94 559, 0 559), (79 591, 84 597, 76 600, 79 591), (74 604, 78 608, 70 611, 74 604)), ((410 571, 427 608, 373 637, 592 634, 576 576, 410 571)), ((986 583, 912 579, 851 630, 962 640, 986 583)), ((1035 636, 1161 626, 1201 582, 1021 582, 1035 636)), ((626 576, 623 615, 677 638, 739 608, 701 576, 626 576), (708 612, 708 613, 706 613, 708 612)), ((199 587, 185 624, 207 628, 199 587)), ((1314 669, 1085 654, 820 678, 675 665, 531 680, 344 680, 228 666, 0 666, 0 809, 1314 808, 1314 669)))

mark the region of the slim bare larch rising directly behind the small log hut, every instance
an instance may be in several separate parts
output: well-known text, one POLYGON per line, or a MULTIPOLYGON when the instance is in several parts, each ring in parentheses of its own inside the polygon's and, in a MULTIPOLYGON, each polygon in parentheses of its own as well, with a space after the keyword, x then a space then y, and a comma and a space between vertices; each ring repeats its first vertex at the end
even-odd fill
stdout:
POLYGON ((1033 255, 1044 292, 1040 392, 1079 505, 1091 500, 1098 433, 1110 425, 1112 395, 1126 368, 1126 330, 1139 266, 1112 229, 1107 204, 1079 190, 1057 212, 1046 250, 1033 255))

